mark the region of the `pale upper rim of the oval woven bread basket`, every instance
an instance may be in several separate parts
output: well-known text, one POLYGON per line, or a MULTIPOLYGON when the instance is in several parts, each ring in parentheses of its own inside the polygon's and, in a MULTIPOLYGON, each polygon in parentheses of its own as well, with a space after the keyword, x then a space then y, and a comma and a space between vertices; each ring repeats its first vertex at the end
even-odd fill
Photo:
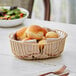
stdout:
MULTIPOLYGON (((58 40, 61 40, 61 39, 66 38, 66 37, 68 36, 68 34, 67 34, 66 32, 62 31, 62 30, 55 29, 55 31, 63 32, 63 33, 64 33, 64 37, 62 37, 62 38, 61 38, 61 37, 58 37, 58 38, 46 38, 46 39, 53 39, 53 40, 51 40, 50 42, 58 41, 58 40)), ((12 39, 12 36, 15 35, 15 33, 16 33, 16 32, 12 32, 12 33, 9 34, 9 39, 10 39, 11 41, 15 41, 15 42, 17 42, 17 43, 26 43, 26 44, 29 44, 29 42, 18 41, 18 40, 12 39)), ((32 44, 35 44, 35 45, 36 45, 36 44, 38 44, 38 43, 32 43, 32 44)), ((45 43, 45 44, 49 44, 49 43, 45 43)), ((44 45, 45 45, 45 44, 44 44, 44 45)))

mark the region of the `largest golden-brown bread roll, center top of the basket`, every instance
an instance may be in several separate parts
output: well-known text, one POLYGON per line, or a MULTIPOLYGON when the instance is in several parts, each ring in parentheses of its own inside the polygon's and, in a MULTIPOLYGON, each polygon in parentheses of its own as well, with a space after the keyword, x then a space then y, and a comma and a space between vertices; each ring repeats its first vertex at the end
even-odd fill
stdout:
POLYGON ((26 30, 26 35, 28 38, 40 40, 46 34, 45 29, 38 25, 29 26, 26 30))

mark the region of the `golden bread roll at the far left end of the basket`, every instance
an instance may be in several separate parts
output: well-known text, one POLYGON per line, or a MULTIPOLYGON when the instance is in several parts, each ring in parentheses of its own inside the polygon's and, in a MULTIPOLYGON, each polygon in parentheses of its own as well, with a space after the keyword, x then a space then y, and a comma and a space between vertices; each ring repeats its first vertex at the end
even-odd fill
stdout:
POLYGON ((27 27, 23 27, 16 32, 16 39, 17 40, 22 40, 26 37, 26 34, 25 34, 26 29, 27 29, 27 27))

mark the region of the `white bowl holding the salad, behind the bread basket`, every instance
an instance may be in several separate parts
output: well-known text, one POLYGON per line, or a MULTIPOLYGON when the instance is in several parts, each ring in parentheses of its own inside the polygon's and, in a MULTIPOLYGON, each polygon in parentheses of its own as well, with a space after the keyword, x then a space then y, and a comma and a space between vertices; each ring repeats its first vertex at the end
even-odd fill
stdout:
MULTIPOLYGON (((2 6, 0 8, 7 8, 9 9, 10 6, 2 6)), ((0 27, 13 27, 13 26, 17 26, 23 23, 23 21, 28 17, 29 12, 24 9, 24 8, 20 8, 18 7, 21 11, 24 11, 26 13, 26 16, 23 18, 19 18, 19 19, 13 19, 13 20, 0 20, 0 27)))

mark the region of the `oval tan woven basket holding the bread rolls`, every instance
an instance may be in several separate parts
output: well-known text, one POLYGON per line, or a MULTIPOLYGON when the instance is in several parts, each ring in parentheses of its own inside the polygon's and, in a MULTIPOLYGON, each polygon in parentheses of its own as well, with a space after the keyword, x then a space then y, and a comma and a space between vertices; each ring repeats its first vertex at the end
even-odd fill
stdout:
POLYGON ((46 59, 58 57, 64 50, 67 34, 64 31, 56 30, 60 35, 59 38, 46 39, 47 43, 44 47, 33 41, 17 41, 14 39, 14 34, 10 34, 10 44, 13 54, 19 59, 46 59))

